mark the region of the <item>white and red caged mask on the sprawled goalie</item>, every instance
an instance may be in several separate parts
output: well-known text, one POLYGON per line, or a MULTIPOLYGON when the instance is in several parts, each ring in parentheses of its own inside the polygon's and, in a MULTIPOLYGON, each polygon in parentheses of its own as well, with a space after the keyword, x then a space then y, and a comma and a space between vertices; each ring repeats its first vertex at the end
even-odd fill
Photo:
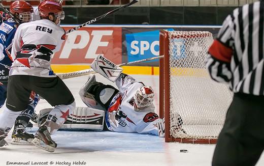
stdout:
POLYGON ((154 91, 151 87, 141 87, 134 95, 134 109, 141 110, 150 106, 154 100, 154 91))

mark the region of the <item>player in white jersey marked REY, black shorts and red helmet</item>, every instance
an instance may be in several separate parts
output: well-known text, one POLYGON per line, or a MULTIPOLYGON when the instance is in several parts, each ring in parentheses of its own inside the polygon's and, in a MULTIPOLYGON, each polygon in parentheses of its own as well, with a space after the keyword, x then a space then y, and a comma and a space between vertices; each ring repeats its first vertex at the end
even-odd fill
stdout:
MULTIPOLYGON (((31 91, 55 106, 35 135, 32 144, 53 152, 57 144, 50 134, 72 114, 75 101, 63 81, 51 70, 51 55, 58 51, 65 39, 65 31, 58 26, 64 18, 61 4, 44 1, 39 5, 41 20, 21 24, 14 37, 11 52, 13 63, 8 80, 6 107, 0 115, 0 142, 5 142, 5 131, 27 106, 31 91), (61 97, 63 96, 63 97, 61 97)), ((4 146, 4 144, 2 144, 4 146)))

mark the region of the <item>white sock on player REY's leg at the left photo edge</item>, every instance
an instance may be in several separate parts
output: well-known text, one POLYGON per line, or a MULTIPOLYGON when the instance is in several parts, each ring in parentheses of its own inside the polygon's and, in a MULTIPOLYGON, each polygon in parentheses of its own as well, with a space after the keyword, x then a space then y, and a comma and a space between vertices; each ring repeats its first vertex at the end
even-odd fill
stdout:
POLYGON ((21 111, 15 112, 5 106, 3 112, 0 114, 0 128, 4 129, 5 132, 8 133, 20 113, 21 111))

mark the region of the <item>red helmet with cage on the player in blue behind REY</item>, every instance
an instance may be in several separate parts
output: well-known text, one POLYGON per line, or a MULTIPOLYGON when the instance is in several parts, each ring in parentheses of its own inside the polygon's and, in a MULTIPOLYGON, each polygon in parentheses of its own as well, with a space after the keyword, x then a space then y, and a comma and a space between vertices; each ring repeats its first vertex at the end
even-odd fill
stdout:
POLYGON ((34 19, 34 11, 30 4, 25 1, 14 1, 10 5, 9 11, 15 15, 15 13, 19 14, 19 19, 22 22, 28 22, 34 19))

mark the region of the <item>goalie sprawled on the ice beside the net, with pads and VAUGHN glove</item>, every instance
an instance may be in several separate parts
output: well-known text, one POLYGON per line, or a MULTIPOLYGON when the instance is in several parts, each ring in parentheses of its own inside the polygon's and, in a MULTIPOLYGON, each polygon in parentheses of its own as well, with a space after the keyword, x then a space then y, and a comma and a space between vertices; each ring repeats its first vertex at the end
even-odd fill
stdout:
MULTIPOLYGON (((108 129, 164 135, 163 121, 155 114, 154 91, 151 87, 121 73, 120 67, 102 56, 98 56, 91 67, 115 82, 117 89, 97 82, 95 75, 90 74, 79 91, 82 101, 88 107, 77 107, 62 129, 108 129)), ((48 109, 41 110, 39 121, 46 118, 48 112, 48 109)))

